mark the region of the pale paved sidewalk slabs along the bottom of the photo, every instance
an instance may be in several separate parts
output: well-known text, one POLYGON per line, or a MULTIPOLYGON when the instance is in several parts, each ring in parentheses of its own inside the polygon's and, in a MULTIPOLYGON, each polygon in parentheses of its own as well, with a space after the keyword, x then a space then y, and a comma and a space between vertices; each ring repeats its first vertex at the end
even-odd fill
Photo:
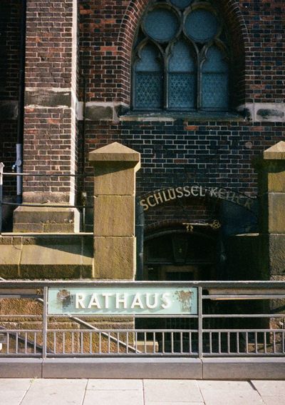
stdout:
POLYGON ((0 379, 0 405, 285 405, 285 381, 0 379))

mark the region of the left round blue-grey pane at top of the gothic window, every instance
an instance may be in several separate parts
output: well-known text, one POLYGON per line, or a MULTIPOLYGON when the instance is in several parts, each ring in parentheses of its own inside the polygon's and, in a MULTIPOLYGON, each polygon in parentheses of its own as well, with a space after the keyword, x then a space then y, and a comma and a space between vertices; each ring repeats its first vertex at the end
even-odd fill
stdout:
POLYGON ((147 35, 156 41, 170 41, 179 29, 175 13, 168 9, 156 8, 145 16, 144 28, 147 35))

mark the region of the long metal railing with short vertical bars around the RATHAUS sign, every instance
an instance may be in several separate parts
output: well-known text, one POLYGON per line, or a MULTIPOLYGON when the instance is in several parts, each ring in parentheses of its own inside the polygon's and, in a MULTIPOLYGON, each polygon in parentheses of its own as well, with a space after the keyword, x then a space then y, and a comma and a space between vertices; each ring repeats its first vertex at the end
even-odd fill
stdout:
POLYGON ((283 281, 0 281, 0 357, 285 356, 284 299, 283 281), (48 288, 71 286, 196 287, 197 314, 49 315, 48 288))

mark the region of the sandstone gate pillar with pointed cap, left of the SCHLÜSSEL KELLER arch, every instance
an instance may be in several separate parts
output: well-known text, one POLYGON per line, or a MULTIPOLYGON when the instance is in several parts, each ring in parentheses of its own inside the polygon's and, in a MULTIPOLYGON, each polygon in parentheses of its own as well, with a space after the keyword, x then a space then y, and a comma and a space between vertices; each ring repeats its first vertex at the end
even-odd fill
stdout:
POLYGON ((90 152, 94 166, 95 279, 135 279, 135 173, 140 154, 118 142, 90 152))

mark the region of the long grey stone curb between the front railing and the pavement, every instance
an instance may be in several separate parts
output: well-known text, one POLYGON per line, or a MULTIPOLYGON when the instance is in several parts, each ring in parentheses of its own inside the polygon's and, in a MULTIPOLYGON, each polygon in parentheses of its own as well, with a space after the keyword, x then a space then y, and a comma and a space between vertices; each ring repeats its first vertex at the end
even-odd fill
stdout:
POLYGON ((2 358, 0 378, 284 380, 285 359, 2 358))

